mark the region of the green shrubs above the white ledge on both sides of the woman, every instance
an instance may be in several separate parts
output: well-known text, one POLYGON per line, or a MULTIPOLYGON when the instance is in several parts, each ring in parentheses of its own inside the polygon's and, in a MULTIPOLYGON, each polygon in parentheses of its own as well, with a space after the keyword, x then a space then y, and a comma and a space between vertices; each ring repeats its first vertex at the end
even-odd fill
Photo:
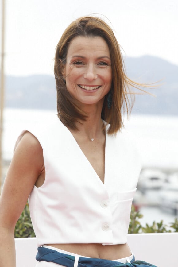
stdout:
MULTIPOLYGON (((129 234, 138 234, 138 233, 169 233, 171 231, 178 232, 178 218, 175 218, 174 222, 170 225, 166 225, 161 222, 153 222, 152 225, 146 224, 145 227, 141 226, 139 219, 143 215, 140 211, 136 211, 134 206, 132 206, 130 214, 130 224, 129 224, 129 234), (172 230, 170 230, 172 229, 172 230)), ((33 230, 32 222, 30 219, 29 204, 26 203, 25 208, 17 221, 14 232, 15 238, 24 238, 24 237, 35 237, 33 230)))

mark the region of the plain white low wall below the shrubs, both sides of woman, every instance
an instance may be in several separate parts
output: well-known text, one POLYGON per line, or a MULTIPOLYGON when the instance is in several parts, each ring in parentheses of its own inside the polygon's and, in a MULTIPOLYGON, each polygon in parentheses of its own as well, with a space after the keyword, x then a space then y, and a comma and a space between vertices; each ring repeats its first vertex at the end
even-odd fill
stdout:
MULTIPOLYGON (((158 267, 178 266, 178 233, 129 234, 128 244, 135 258, 158 267)), ((35 267, 36 238, 16 238, 17 267, 35 267)))

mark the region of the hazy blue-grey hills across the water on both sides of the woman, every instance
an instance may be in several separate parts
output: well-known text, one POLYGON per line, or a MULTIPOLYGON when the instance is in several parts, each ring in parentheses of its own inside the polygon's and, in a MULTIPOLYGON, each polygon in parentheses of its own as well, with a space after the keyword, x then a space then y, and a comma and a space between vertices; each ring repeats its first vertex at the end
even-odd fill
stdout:
MULTIPOLYGON (((157 95, 137 95, 134 112, 144 114, 178 115, 178 66, 166 60, 142 56, 125 59, 127 75, 137 82, 160 86, 149 92, 157 95)), ((6 77, 6 107, 56 109, 55 79, 49 75, 6 77)))

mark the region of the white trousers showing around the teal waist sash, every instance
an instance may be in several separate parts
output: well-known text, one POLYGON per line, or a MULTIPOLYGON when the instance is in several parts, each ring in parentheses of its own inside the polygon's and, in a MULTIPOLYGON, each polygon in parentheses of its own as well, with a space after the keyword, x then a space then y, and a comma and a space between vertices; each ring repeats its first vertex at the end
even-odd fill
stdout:
MULTIPOLYGON (((45 246, 45 245, 43 247, 46 247, 46 248, 49 248, 49 249, 52 249, 52 250, 56 250, 56 251, 64 253, 64 254, 75 256, 74 267, 78 266, 79 257, 87 258, 85 256, 74 254, 74 253, 71 253, 71 252, 68 252, 68 251, 65 251, 65 250, 56 249, 55 247, 45 246)), ((131 252, 131 254, 132 255, 129 256, 129 257, 118 259, 118 260, 114 260, 114 261, 119 261, 121 263, 127 263, 127 262, 130 263, 130 261, 133 259, 133 253, 131 252)), ((57 263, 54 263, 54 262, 38 261, 37 264, 36 264, 36 267, 65 267, 65 266, 57 264, 57 263)))

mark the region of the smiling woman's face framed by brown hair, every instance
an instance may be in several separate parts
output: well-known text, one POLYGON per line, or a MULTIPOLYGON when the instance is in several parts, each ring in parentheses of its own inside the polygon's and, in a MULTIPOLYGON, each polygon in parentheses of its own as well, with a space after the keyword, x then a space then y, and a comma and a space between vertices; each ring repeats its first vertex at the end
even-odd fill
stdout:
POLYGON ((63 69, 68 92, 82 104, 103 105, 112 81, 110 51, 102 37, 77 36, 63 69))

